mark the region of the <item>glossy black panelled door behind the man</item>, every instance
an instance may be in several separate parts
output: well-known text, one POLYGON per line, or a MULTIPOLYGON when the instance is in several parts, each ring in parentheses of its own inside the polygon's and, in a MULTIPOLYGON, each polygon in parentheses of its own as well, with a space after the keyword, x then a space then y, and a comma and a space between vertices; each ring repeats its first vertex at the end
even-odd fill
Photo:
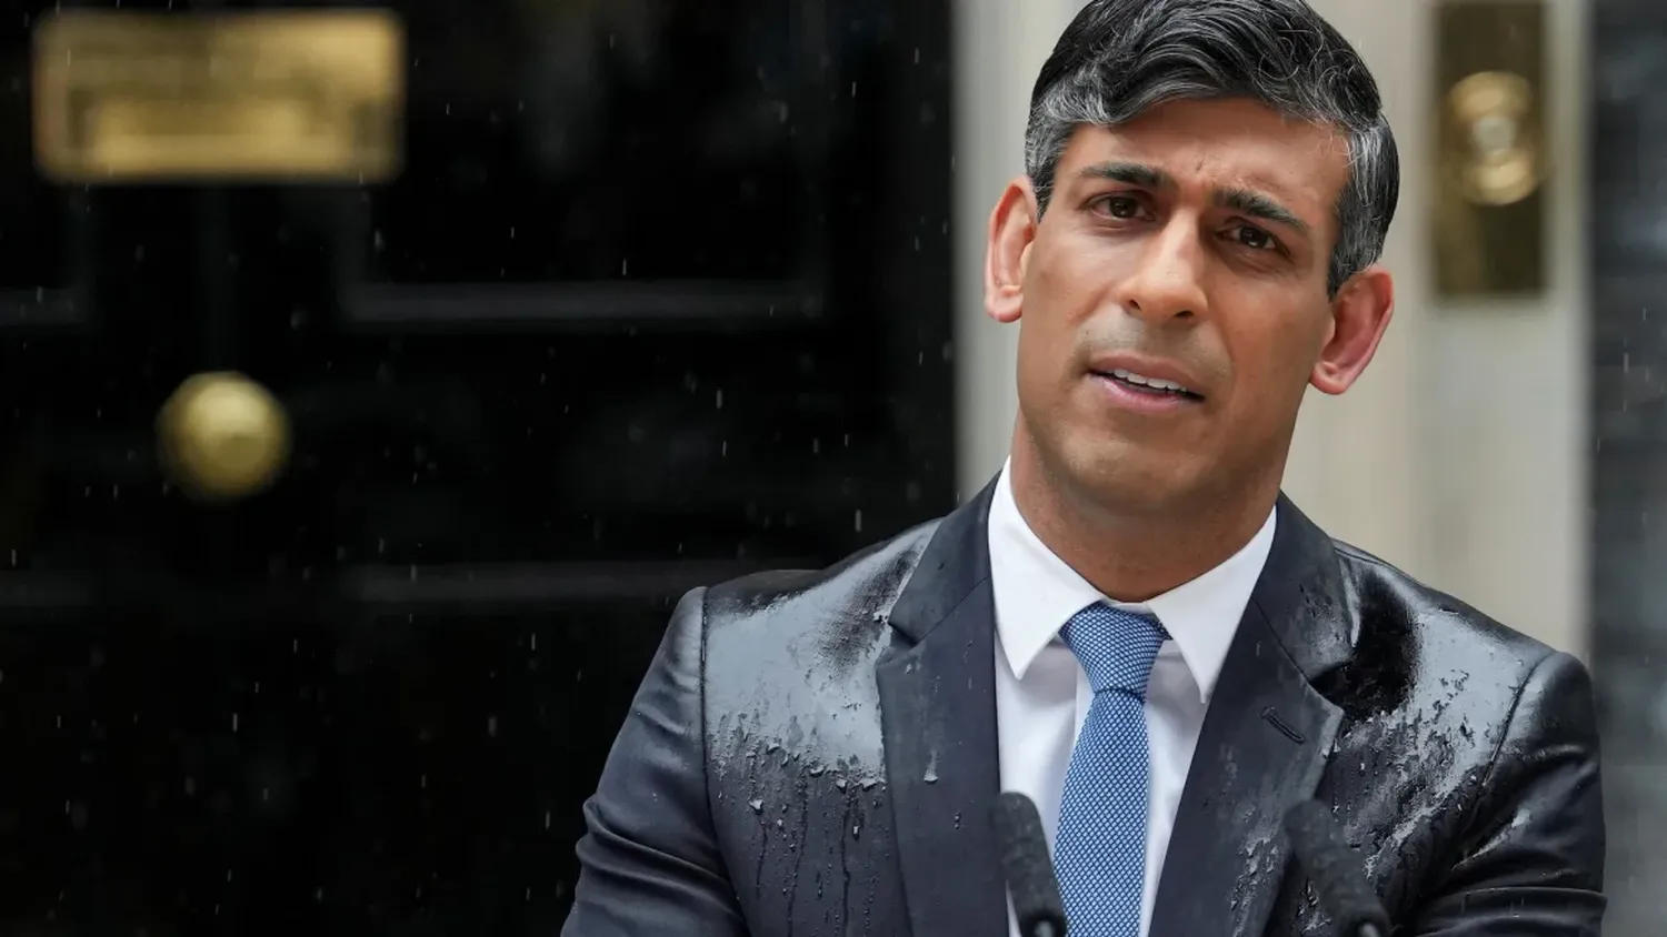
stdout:
POLYGON ((947 3, 402 3, 378 186, 45 181, 53 7, 0 25, 0 932, 555 934, 670 604, 954 499, 947 3), (158 458, 193 374, 270 391, 267 489, 158 458))

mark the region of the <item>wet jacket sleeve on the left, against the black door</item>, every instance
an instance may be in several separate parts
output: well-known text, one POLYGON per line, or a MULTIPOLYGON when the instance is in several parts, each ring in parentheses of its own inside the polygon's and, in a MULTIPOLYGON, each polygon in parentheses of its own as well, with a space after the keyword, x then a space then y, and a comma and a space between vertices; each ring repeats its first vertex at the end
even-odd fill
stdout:
MULTIPOLYGON (((585 802, 562 937, 743 937, 707 801, 705 591, 683 596, 585 802)), ((583 714, 578 714, 583 717, 583 714)))

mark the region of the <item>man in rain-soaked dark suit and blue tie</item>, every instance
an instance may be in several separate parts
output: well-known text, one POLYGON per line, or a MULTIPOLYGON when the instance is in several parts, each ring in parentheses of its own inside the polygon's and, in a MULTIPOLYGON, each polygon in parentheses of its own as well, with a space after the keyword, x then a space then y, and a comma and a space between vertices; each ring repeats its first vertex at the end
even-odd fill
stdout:
POLYGON ((1365 65, 1302 0, 1094 0, 1025 158, 985 265, 1007 468, 834 569, 683 599, 563 932, 1000 937, 1012 789, 1077 937, 1324 932, 1280 834, 1305 799, 1395 934, 1599 934, 1585 669, 1279 494, 1305 388, 1390 320, 1365 65))

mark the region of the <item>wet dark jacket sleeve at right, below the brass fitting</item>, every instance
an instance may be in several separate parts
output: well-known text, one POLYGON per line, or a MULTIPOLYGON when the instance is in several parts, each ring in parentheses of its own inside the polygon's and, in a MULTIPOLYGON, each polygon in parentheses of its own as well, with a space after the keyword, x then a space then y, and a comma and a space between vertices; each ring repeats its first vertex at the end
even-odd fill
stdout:
MULTIPOLYGON (((1460 701, 1462 702, 1462 701, 1460 701)), ((1604 797, 1592 679, 1550 654, 1519 691, 1482 784, 1472 842, 1414 934, 1597 937, 1604 917, 1604 797)))

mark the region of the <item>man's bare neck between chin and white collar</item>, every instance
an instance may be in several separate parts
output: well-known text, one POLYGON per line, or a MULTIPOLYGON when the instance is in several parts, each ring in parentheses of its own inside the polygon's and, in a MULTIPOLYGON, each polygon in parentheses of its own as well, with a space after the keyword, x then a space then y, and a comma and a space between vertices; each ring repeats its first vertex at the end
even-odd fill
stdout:
POLYGON ((1262 529, 1279 498, 1275 483, 1187 509, 1117 511, 1070 491, 1020 448, 1014 449, 1012 486, 1037 539, 1124 602, 1169 592, 1230 559, 1262 529))

